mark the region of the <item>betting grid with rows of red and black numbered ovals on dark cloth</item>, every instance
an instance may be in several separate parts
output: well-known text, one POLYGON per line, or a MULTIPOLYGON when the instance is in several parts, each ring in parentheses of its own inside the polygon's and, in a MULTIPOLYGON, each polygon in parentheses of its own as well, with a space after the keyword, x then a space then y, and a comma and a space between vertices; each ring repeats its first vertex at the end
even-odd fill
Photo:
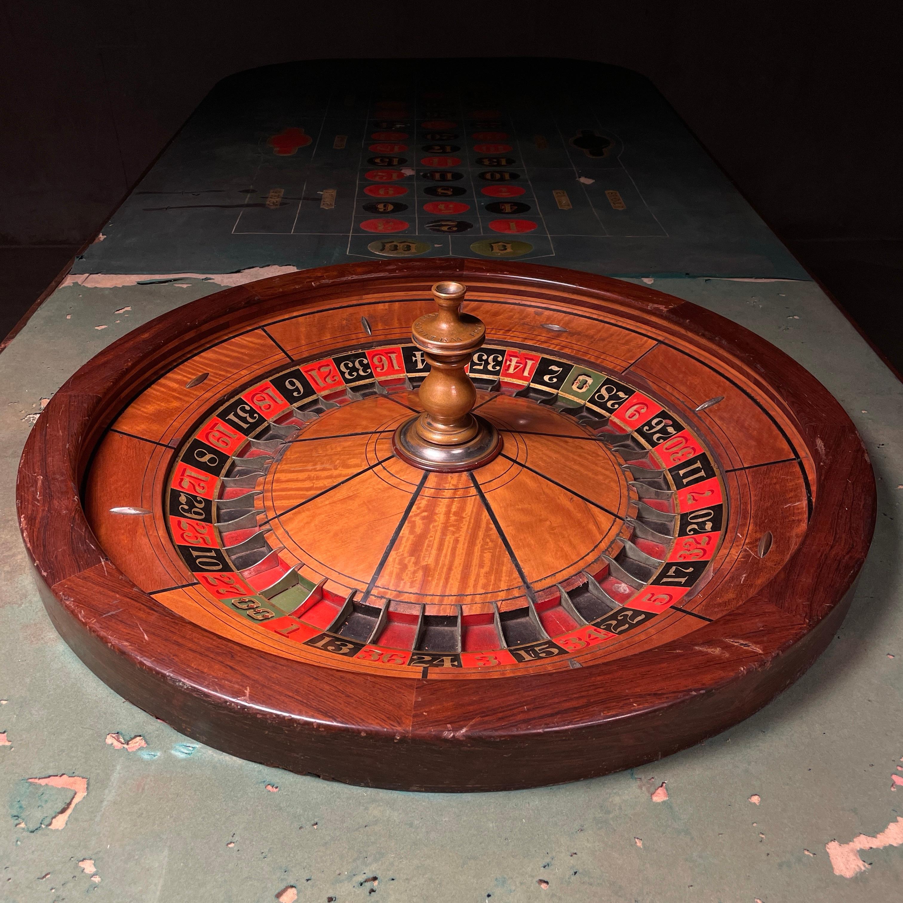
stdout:
POLYGON ((360 117, 336 99, 303 116, 315 137, 286 126, 266 139, 255 179, 266 202, 246 203, 234 234, 347 235, 347 256, 520 259, 554 256, 555 237, 666 237, 620 162, 619 139, 595 116, 534 111, 527 122, 502 103, 480 111, 455 99, 374 100, 360 117), (596 178, 580 181, 580 171, 596 178))

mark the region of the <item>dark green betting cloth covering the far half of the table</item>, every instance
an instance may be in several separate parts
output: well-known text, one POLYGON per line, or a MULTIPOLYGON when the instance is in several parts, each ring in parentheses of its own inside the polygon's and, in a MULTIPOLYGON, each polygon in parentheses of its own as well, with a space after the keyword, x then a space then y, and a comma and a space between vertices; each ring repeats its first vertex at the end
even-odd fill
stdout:
POLYGON ((239 72, 210 91, 103 232, 76 273, 489 256, 605 275, 808 278, 648 79, 575 60, 320 60, 239 72), (445 140, 429 137, 424 93, 442 95, 433 112, 460 146, 450 170, 423 163, 424 142, 445 140), (400 104, 388 121, 383 101, 400 104), (401 178, 372 180, 373 135, 395 131, 396 116, 401 178), (271 142, 286 128, 313 140, 280 153, 271 142), (486 168, 499 158, 477 150, 483 129, 507 135, 504 170, 486 168), (401 193, 374 196, 367 185, 401 193), (505 223, 492 207, 507 198, 484 194, 492 188, 517 191, 526 232, 492 227, 505 223), (400 231, 371 231, 379 200, 399 205, 390 218, 400 231), (445 214, 426 209, 437 200, 467 208, 443 228, 445 214))

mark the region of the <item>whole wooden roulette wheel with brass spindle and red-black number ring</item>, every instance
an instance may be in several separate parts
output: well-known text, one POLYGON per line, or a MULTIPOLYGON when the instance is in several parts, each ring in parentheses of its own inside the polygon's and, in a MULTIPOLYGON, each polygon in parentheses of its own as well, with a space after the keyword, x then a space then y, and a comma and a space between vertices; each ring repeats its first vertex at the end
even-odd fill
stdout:
POLYGON ((53 397, 17 499, 54 625, 126 699, 246 759, 456 791, 757 711, 832 638, 875 517, 851 421, 765 340, 454 258, 151 321, 53 397))

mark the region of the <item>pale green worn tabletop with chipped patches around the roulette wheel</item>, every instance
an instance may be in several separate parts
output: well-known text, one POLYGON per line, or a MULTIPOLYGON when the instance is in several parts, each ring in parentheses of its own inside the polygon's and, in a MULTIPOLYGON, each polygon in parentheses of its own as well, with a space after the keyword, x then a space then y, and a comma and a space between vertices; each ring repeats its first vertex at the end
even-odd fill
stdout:
POLYGON ((655 281, 786 350, 859 428, 879 517, 837 638, 776 702, 694 749, 460 796, 345 787, 198 746, 101 684, 42 609, 14 517, 42 398, 110 341, 219 287, 63 287, 0 355, 0 900, 903 899, 903 385, 814 284, 655 281), (110 733, 146 746, 116 749, 110 733), (60 775, 70 789, 29 780, 60 775), (67 810, 74 777, 87 795, 67 810))

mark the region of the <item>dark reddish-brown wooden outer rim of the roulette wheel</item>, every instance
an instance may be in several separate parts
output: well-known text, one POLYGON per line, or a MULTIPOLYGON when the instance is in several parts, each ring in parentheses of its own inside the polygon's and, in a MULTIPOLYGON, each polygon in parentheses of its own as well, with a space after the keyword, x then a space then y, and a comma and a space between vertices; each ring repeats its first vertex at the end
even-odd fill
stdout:
POLYGON ((604 276, 442 259, 340 265, 275 276, 202 298, 117 340, 61 387, 33 427, 19 468, 17 508, 51 619, 88 666, 126 698, 179 730, 247 759, 353 783, 449 790, 527 787, 602 774, 682 749, 756 711, 811 665, 830 641, 870 545, 876 502, 868 455, 847 414, 815 377, 749 330, 692 303, 604 276), (79 481, 101 433, 154 378, 227 326, 247 322, 253 329, 252 323, 276 319, 296 304, 300 291, 310 295, 308 303, 340 296, 361 303, 368 295, 361 283, 378 293, 396 287, 410 291, 416 284, 425 297, 430 284, 450 276, 469 282, 478 292, 529 290, 540 300, 544 287, 572 288, 586 299, 571 302, 577 307, 617 313, 638 326, 645 321, 657 330, 670 327, 675 339, 685 340, 690 333, 713 357, 733 367, 740 364, 796 425, 814 461, 812 517, 781 572, 740 610, 688 637, 584 667, 576 675, 566 669, 491 680, 423 681, 275 663, 274 656, 219 638, 164 609, 109 563, 81 508, 79 481), (79 577, 92 568, 91 574, 79 577), (87 591, 101 572, 114 589, 87 591), (105 605, 107 610, 101 610, 105 605), (116 607, 121 611, 109 614, 116 607), (703 639, 719 642, 725 628, 733 622, 740 628, 744 618, 749 624, 743 629, 753 632, 757 618, 779 625, 770 647, 759 641, 756 645, 763 651, 754 654, 724 643, 728 659, 703 662, 675 675, 672 656, 682 662, 692 658, 688 649, 703 639), (829 623, 833 627, 827 629, 829 623), (160 634, 147 652, 142 650, 145 631, 148 637, 160 634), (202 649, 203 655, 167 648, 171 632, 185 647, 202 649), (199 666, 209 667, 217 659, 229 666, 218 675, 219 692, 213 693, 204 683, 208 672, 199 666), (317 681, 323 672, 341 675, 326 681, 330 712, 324 717, 314 703, 278 689, 275 680, 267 681, 266 701, 255 698, 260 694, 256 687, 251 692, 249 675, 274 669, 287 669, 285 675, 291 673, 293 680, 303 679, 305 672, 316 675, 317 681), (605 691, 613 680, 636 686, 643 702, 634 707, 621 701, 619 707, 605 691), (375 697, 385 700, 379 719, 365 717, 367 707, 360 704, 375 697), (519 706, 519 713, 506 711, 505 701, 512 697, 526 702, 526 710, 519 706), (725 707, 726 699, 733 703, 725 707), (476 707, 477 719, 470 718, 469 706, 476 707), (236 729, 247 719, 258 733, 256 719, 266 722, 262 738, 237 736, 236 729), (644 739, 635 725, 649 719, 655 729, 644 739), (466 737, 448 738, 448 722, 455 727, 467 721, 476 723, 466 737), (324 730, 332 738, 327 747, 316 739, 324 730), (367 740, 360 738, 360 731, 367 740), (292 740, 276 742, 276 735, 292 740), (610 752, 600 754, 592 742, 581 751, 581 743, 591 737, 592 742, 607 738, 610 752), (361 755, 361 748, 368 746, 374 756, 361 755), (374 760, 380 758, 377 748, 383 755, 390 753, 393 764, 374 760), (512 759, 514 748, 519 752, 512 759), (556 765, 558 753, 563 758, 556 765))

